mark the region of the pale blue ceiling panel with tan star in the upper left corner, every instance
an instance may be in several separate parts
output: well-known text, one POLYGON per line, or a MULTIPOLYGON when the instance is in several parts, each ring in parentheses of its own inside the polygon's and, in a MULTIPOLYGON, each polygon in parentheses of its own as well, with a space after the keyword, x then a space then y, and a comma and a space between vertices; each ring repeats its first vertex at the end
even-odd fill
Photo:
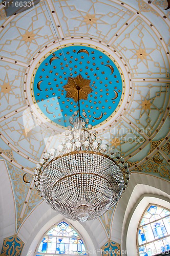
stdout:
POLYGON ((44 4, 38 4, 17 18, 12 16, 3 28, 1 52, 3 56, 29 63, 40 48, 55 39, 54 30, 44 4))

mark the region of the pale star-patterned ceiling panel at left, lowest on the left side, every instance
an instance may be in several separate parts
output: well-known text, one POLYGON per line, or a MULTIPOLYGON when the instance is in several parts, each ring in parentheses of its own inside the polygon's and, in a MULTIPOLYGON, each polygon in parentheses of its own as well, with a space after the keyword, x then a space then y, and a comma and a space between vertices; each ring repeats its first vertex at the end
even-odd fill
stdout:
POLYGON ((25 118, 23 112, 17 112, 14 116, 5 118, 1 123, 2 139, 5 137, 13 149, 19 151, 26 158, 38 160, 44 152, 44 138, 49 137, 51 132, 42 130, 40 126, 35 126, 27 133, 24 126, 25 118))

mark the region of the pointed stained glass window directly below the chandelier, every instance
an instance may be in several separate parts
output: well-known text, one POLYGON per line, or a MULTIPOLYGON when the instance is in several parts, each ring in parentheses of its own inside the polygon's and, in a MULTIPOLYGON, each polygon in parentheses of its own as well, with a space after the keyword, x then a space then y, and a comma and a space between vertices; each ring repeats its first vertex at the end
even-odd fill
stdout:
POLYGON ((36 256, 87 255, 79 234, 66 222, 53 227, 40 242, 36 256))

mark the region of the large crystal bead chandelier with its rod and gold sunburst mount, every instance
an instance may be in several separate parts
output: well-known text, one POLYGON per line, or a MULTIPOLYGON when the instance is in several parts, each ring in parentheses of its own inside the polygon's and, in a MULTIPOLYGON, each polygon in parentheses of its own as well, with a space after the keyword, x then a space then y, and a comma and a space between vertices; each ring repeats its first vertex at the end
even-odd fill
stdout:
POLYGON ((97 138, 87 114, 80 115, 80 99, 91 92, 90 80, 69 77, 66 97, 78 102, 70 117, 65 141, 36 164, 34 182, 42 199, 61 215, 75 221, 96 219, 112 208, 128 187, 128 163, 114 148, 97 138))

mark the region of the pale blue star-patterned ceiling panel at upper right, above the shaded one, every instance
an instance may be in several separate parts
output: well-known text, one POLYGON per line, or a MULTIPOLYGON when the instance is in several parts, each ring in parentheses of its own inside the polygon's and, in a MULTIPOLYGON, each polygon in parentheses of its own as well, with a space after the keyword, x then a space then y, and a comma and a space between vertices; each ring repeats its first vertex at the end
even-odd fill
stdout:
POLYGON ((112 47, 117 48, 132 77, 166 77, 169 72, 166 49, 155 31, 141 18, 136 18, 125 33, 117 37, 112 47))

